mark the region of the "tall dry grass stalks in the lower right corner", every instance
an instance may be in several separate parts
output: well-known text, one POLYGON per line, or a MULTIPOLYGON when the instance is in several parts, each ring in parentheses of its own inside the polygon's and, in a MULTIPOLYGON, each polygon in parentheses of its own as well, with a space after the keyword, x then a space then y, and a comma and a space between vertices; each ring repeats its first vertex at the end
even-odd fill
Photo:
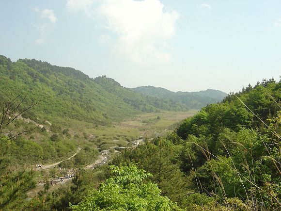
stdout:
MULTIPOLYGON (((272 97, 269 93, 268 93, 268 95, 270 97, 272 97)), ((237 96, 235 95, 235 97, 237 97, 237 96)), ((240 102, 243 103, 243 105, 247 109, 249 109, 249 111, 252 114, 254 114, 254 112, 239 97, 237 97, 237 98, 239 99, 240 102)), ((273 100, 278 105, 278 107, 281 109, 280 105, 276 102, 276 100, 274 98, 273 98, 273 100)), ((256 114, 254 114, 254 115, 259 119, 259 121, 261 121, 261 123, 263 123, 266 126, 267 129, 270 128, 270 126, 265 124, 265 122, 261 118, 259 118, 256 114)), ((281 121, 281 114, 278 113, 277 115, 279 117, 279 121, 281 121)), ((260 132, 257 128, 256 128, 256 132, 257 132, 259 138, 261 139, 261 141, 262 141, 262 143, 265 147, 266 152, 268 153, 268 155, 261 155, 261 158, 266 158, 267 160, 271 160, 273 162, 274 166, 276 167, 276 170, 278 171, 279 175, 281 176, 281 170, 280 170, 281 169, 281 163, 279 161, 279 156, 281 154, 280 150, 278 150, 279 156, 278 156, 278 160, 276 160, 273 157, 273 155, 270 153, 270 150, 268 149, 268 147, 269 147, 268 144, 266 144, 265 140, 263 139, 263 136, 260 134, 260 132)), ((280 138, 281 135, 278 132, 276 132, 274 130, 273 131, 271 130, 270 132, 277 138, 277 140, 281 139, 280 138)), ((280 142, 274 143, 273 139, 271 139, 271 142, 272 142, 271 145, 273 145, 273 146, 280 145, 280 142)), ((268 190, 265 187, 260 187, 260 184, 257 184, 255 172, 251 171, 251 169, 256 168, 260 172, 260 175, 262 177, 264 177, 263 169, 260 168, 259 163, 257 163, 257 161, 253 158, 252 151, 251 150, 249 151, 247 149, 247 147, 244 146, 242 143, 237 143, 237 142, 233 141, 233 144, 235 144, 237 146, 241 146, 242 148, 244 148, 245 151, 247 151, 247 154, 250 155, 250 158, 251 158, 250 163, 247 162, 247 159, 246 159, 245 155, 243 155, 244 156, 244 163, 240 163, 244 167, 244 169, 247 170, 248 177, 241 174, 240 171, 237 169, 237 167, 236 167, 236 165, 233 161, 232 155, 229 152, 228 146, 226 146, 223 142, 221 142, 221 145, 226 150, 226 152, 228 154, 228 157, 231 160, 231 164, 229 164, 229 163, 225 162, 224 160, 220 159, 219 156, 216 156, 213 153, 211 153, 208 150, 208 147, 206 145, 201 146, 201 145, 199 145, 198 143, 195 143, 195 142, 189 142, 189 143, 197 146, 201 150, 202 154, 204 155, 204 157, 206 159, 206 162, 209 162, 211 164, 212 177, 213 177, 213 181, 215 181, 214 185, 217 184, 217 187, 218 187, 219 192, 220 192, 220 194, 218 195, 216 193, 216 190, 217 190, 216 188, 215 188, 215 193, 209 193, 207 190, 203 190, 203 187, 202 187, 201 182, 200 182, 200 178, 197 176, 197 171, 194 168, 192 157, 190 156, 190 153, 188 152, 188 157, 189 157, 189 159, 191 161, 191 165, 192 165, 191 174, 194 175, 194 178, 196 180, 198 192, 199 193, 206 192, 208 195, 215 196, 219 199, 219 200, 217 200, 217 203, 214 204, 214 205, 204 205, 205 203, 203 201, 203 197, 201 197, 202 198, 201 206, 194 205, 193 206, 194 210, 203 210, 203 211, 205 211, 205 210, 227 210, 227 211, 236 211, 236 210, 241 210, 241 211, 244 211, 244 210, 245 211, 265 211, 265 210, 268 210, 269 211, 269 210, 280 210, 281 209, 281 201, 280 201, 280 198, 278 197, 278 194, 280 195, 281 193, 274 193, 274 191, 272 191, 270 189, 268 190), (229 198, 227 196, 227 194, 225 192, 223 180, 215 172, 215 170, 213 168, 215 166, 212 166, 212 162, 210 162, 210 160, 212 158, 215 158, 215 159, 219 160, 220 162, 223 162, 225 165, 227 165, 229 168, 231 168, 236 173, 236 177, 240 181, 241 187, 243 187, 243 189, 245 191, 245 195, 246 195, 247 198, 242 198, 243 200, 241 201, 240 199, 238 199, 236 197, 236 195, 235 195, 234 198, 229 198), (245 182, 250 184, 250 190, 246 189, 245 182), (264 197, 271 198, 271 202, 272 202, 271 205, 268 205, 268 206, 265 207, 264 197)), ((235 190, 234 190, 234 194, 235 194, 235 190)))

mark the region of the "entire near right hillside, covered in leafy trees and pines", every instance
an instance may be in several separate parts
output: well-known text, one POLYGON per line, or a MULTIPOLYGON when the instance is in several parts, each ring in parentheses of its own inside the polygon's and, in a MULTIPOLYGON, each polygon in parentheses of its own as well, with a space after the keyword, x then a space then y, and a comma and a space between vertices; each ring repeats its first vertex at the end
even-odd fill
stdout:
POLYGON ((168 136, 123 151, 112 164, 138 163, 186 211, 277 211, 280 144, 281 80, 269 79, 202 108, 168 136))

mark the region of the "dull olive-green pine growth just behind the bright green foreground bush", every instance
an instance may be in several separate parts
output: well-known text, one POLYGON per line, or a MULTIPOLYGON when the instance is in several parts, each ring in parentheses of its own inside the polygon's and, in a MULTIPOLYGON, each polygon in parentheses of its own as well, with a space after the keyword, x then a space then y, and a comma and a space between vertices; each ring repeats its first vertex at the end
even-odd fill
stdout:
POLYGON ((111 162, 119 165, 138 163, 139 168, 152 173, 155 182, 162 190, 161 195, 168 196, 172 201, 182 202, 186 191, 186 180, 180 168, 175 164, 176 146, 171 141, 156 138, 154 144, 147 143, 136 149, 124 150, 111 162))

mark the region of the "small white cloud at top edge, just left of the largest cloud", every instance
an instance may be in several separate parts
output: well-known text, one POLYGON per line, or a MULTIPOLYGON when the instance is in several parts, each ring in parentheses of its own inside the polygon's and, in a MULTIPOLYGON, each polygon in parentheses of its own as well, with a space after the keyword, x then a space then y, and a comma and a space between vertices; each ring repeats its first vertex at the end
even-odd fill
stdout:
POLYGON ((83 10, 87 16, 93 15, 94 0, 67 0, 66 6, 70 11, 77 12, 83 10))

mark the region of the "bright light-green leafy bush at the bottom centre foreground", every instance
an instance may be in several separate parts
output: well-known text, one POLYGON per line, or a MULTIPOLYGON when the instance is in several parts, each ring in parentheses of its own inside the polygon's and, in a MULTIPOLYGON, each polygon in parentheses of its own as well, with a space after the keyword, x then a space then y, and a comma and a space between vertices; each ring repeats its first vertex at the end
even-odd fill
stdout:
POLYGON ((176 204, 160 195, 156 184, 147 181, 151 176, 135 165, 110 166, 109 179, 70 208, 78 211, 179 211, 176 204))

